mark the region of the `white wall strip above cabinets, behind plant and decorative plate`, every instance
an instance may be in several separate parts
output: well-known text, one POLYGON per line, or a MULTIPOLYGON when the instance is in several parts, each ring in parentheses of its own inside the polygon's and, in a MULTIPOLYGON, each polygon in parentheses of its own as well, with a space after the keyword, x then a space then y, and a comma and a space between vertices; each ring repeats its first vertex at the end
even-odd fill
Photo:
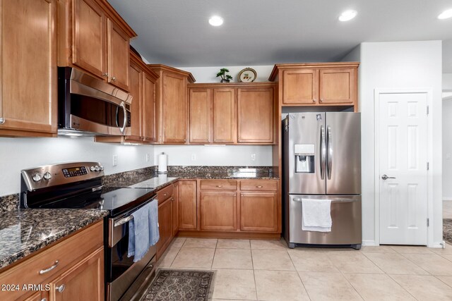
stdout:
POLYGON ((270 66, 213 66, 213 67, 177 67, 186 70, 193 74, 196 82, 220 82, 221 78, 216 75, 221 68, 227 68, 230 72, 227 73, 232 76, 231 82, 238 82, 237 77, 239 72, 244 68, 253 68, 256 70, 256 82, 268 82, 273 65, 270 66))

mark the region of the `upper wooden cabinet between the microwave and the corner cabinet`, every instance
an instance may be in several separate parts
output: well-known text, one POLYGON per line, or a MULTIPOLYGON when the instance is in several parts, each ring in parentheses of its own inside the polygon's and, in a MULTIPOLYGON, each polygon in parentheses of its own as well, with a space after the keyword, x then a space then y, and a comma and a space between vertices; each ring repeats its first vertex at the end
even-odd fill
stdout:
POLYGON ((133 51, 130 53, 129 82, 131 103, 131 132, 125 136, 97 136, 97 142, 152 143, 155 135, 155 89, 158 75, 133 51))

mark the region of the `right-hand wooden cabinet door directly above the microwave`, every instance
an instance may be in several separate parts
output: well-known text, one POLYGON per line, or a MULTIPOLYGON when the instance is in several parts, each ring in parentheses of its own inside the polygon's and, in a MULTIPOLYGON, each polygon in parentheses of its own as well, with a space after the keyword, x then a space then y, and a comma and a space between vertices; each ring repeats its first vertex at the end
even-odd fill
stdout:
POLYGON ((129 36, 108 20, 108 82, 129 91, 129 36))

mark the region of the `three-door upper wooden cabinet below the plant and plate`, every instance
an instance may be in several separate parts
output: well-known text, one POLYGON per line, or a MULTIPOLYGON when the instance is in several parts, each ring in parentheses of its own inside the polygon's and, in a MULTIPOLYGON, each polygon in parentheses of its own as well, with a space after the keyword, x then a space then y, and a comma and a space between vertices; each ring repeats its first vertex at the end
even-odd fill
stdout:
POLYGON ((190 144, 274 142, 273 82, 189 85, 190 144))

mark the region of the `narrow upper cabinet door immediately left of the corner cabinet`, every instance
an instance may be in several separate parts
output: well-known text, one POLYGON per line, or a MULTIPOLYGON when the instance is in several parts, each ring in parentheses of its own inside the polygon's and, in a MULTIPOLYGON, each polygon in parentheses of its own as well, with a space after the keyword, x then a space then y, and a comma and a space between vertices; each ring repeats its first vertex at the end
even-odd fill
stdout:
POLYGON ((143 74, 143 136, 145 141, 154 142, 157 140, 155 134, 155 80, 148 73, 143 74))

